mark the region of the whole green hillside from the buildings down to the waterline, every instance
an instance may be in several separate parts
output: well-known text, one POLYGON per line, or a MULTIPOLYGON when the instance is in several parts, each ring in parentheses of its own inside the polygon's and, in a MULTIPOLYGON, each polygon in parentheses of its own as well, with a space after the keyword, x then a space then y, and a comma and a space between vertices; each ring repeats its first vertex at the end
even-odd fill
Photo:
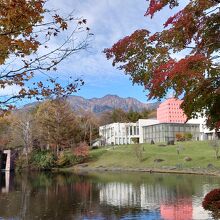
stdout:
MULTIPOLYGON (((220 160, 208 141, 189 141, 176 145, 121 145, 90 151, 87 170, 127 170, 220 175, 220 160), (177 147, 181 151, 177 153, 177 147), (141 150, 138 154, 137 149, 141 150), (141 160, 140 160, 141 155, 141 160), (190 160, 186 160, 190 158, 190 160)), ((73 168, 70 168, 70 170, 73 168)), ((83 169, 80 165, 76 169, 83 169)))

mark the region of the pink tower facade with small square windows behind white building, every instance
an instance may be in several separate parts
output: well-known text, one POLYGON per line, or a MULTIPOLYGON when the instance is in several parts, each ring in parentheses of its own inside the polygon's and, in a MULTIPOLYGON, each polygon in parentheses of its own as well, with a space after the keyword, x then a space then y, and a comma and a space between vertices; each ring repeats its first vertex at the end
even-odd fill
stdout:
POLYGON ((157 120, 165 123, 185 123, 186 115, 180 108, 182 100, 169 98, 157 109, 157 120))

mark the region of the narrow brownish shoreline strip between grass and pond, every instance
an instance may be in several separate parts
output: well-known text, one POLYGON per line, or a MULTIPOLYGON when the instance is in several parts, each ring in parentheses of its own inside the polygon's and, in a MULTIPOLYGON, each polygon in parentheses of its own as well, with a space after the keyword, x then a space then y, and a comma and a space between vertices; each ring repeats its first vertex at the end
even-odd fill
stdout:
POLYGON ((88 164, 75 165, 70 168, 59 169, 59 171, 68 171, 74 173, 83 173, 83 172, 140 172, 140 173, 168 173, 168 174, 189 174, 189 175, 208 175, 220 177, 220 170, 208 170, 208 169, 199 169, 199 168, 188 168, 188 169, 177 169, 170 167, 167 169, 164 168, 124 168, 124 167, 89 167, 88 164))

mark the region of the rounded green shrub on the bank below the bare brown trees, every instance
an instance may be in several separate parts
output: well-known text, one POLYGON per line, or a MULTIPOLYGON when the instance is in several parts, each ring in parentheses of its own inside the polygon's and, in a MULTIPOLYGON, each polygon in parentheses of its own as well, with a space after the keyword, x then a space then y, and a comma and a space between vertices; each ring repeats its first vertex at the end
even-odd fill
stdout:
POLYGON ((55 165, 55 156, 49 150, 35 150, 31 154, 31 166, 40 170, 51 169, 55 165))

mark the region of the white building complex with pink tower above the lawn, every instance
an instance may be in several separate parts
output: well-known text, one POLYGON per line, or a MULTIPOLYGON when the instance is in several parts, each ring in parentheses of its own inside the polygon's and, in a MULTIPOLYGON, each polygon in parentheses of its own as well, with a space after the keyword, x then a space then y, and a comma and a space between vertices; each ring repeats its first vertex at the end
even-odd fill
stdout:
POLYGON ((101 145, 133 144, 135 139, 138 139, 139 143, 169 142, 175 141, 179 133, 190 133, 193 140, 212 139, 214 131, 205 126, 204 118, 182 122, 184 113, 180 104, 181 102, 174 98, 166 100, 157 109, 158 120, 139 119, 136 123, 112 123, 99 127, 101 145))

